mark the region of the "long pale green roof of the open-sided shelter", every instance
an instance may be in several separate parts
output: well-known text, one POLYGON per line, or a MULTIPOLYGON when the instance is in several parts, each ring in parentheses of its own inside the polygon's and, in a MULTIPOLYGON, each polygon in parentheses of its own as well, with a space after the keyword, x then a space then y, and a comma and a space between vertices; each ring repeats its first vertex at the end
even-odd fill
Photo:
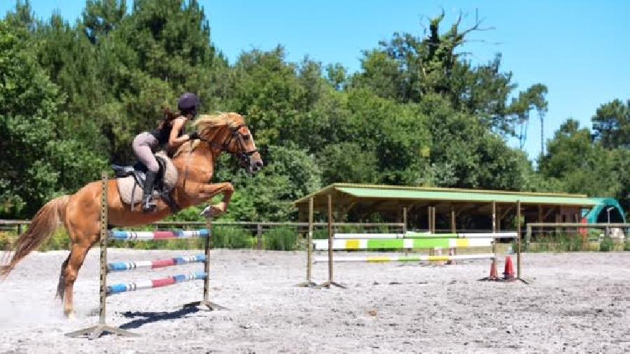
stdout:
POLYGON ((310 194, 295 201, 295 204, 308 201, 309 197, 328 194, 336 190, 349 194, 356 198, 379 199, 426 199, 444 201, 472 201, 515 203, 521 201, 524 204, 563 204, 572 206, 594 206, 598 204, 596 199, 588 198, 583 194, 560 193, 533 193, 533 192, 507 192, 500 190, 466 190, 458 188, 428 188, 428 187, 402 187, 390 185, 351 185, 333 184, 323 190, 310 194))

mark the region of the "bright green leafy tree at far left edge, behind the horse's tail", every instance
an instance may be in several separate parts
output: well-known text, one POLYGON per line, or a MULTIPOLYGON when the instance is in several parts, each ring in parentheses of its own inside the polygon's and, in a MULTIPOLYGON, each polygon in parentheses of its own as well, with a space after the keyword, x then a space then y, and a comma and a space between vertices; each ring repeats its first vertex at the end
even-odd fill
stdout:
POLYGON ((25 29, 0 22, 0 215, 34 213, 55 192, 94 178, 104 160, 67 134, 64 97, 29 51, 25 29), (26 40, 26 42, 25 42, 26 40))

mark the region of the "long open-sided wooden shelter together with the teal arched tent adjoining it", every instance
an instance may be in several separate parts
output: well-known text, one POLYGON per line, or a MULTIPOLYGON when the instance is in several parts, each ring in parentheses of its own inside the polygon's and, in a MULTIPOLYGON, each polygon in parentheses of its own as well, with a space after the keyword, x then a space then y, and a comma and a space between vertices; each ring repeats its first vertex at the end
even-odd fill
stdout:
POLYGON ((434 232, 514 229, 517 201, 521 202, 525 222, 602 220, 603 212, 606 217, 610 215, 610 222, 625 222, 624 212, 614 199, 589 198, 584 194, 347 183, 328 185, 295 201, 300 219, 308 214, 310 198, 314 199, 315 211, 325 211, 328 195, 338 221, 402 222, 406 216, 404 221, 409 227, 434 232))

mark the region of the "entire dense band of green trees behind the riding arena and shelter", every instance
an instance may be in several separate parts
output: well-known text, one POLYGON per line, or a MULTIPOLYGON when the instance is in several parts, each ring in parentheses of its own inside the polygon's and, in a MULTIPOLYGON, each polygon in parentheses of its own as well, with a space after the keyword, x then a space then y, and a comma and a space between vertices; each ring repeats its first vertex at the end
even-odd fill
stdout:
MULTIPOLYGON (((196 0, 87 0, 80 18, 37 20, 28 2, 0 21, 0 218, 29 218, 111 162, 183 92, 202 111, 246 116, 267 166, 245 176, 230 157, 216 180, 237 192, 225 218, 290 220, 291 201, 335 182, 554 190, 628 206, 630 100, 604 103, 593 130, 568 120, 534 168, 507 139, 547 112, 542 83, 517 91, 498 53, 473 64, 463 45, 482 24, 428 21, 365 48, 361 69, 285 48, 233 64, 196 0)), ((395 30, 395 29, 393 29, 395 30)), ((183 216, 188 218, 188 216, 183 216)))

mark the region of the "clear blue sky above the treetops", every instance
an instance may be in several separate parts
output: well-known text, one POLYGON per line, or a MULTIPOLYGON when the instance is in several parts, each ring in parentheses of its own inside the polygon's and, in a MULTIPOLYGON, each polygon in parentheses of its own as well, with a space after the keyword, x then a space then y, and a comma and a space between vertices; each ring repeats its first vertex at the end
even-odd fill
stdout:
MULTIPOLYGON (((127 0, 131 2, 132 0, 127 0)), ((71 23, 85 1, 31 0, 38 17, 53 10, 71 23)), ((490 31, 471 36, 465 51, 474 62, 503 55, 503 71, 512 71, 520 89, 534 83, 549 88, 545 139, 567 118, 590 127, 596 108, 612 99, 630 99, 630 1, 412 1, 412 0, 200 0, 210 22, 211 39, 235 62, 238 55, 282 44, 288 60, 304 55, 323 64, 340 62, 350 71, 360 69, 361 51, 395 31, 423 34, 421 24, 442 8, 451 23, 462 11, 463 24, 475 12, 490 31), (483 42, 482 42, 483 41, 483 42)), ((15 0, 0 3, 0 13, 15 0)), ((510 142, 517 146, 515 141, 510 142)), ((528 125, 525 150, 540 152, 540 122, 535 114, 528 125)))

